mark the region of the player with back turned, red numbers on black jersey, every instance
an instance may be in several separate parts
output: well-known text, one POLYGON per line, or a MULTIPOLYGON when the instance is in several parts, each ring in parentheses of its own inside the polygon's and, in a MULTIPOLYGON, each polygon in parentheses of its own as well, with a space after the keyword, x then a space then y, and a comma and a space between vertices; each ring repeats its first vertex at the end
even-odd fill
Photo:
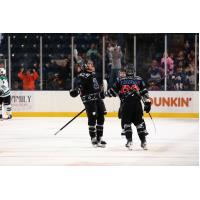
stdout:
POLYGON ((125 136, 127 139, 126 147, 132 150, 132 128, 133 123, 136 126, 138 136, 141 141, 141 147, 147 150, 146 136, 148 132, 143 119, 143 108, 141 98, 144 102, 144 111, 147 113, 151 110, 151 101, 146 89, 145 83, 139 76, 134 76, 134 69, 127 68, 126 76, 121 77, 107 91, 109 97, 116 97, 121 100, 121 120, 124 126, 125 136))

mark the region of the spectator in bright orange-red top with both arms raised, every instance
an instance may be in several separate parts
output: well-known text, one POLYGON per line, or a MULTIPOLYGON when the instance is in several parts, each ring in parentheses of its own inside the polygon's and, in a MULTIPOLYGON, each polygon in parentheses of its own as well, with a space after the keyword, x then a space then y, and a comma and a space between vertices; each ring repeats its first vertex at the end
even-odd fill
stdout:
POLYGON ((33 69, 33 73, 31 73, 29 69, 24 72, 24 68, 22 68, 18 73, 18 77, 23 81, 23 90, 35 90, 35 81, 39 77, 35 69, 33 69))

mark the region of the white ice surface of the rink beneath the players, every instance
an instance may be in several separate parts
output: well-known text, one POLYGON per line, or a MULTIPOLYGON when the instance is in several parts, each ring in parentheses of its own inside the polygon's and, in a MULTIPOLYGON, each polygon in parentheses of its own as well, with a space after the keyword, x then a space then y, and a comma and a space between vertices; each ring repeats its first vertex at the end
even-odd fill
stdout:
POLYGON ((87 119, 77 118, 59 130, 71 118, 13 118, 0 121, 0 165, 39 166, 136 166, 198 165, 198 119, 145 118, 149 135, 148 151, 140 147, 133 127, 133 151, 125 148, 120 121, 106 118, 106 148, 93 148, 87 119))

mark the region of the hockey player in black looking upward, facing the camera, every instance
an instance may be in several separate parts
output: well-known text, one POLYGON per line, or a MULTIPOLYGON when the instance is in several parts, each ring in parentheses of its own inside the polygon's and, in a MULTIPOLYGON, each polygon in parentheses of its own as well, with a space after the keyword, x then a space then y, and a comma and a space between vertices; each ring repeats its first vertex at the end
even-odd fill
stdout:
POLYGON ((91 142, 95 147, 105 147, 106 142, 102 140, 104 115, 106 114, 102 100, 104 92, 101 91, 96 79, 95 67, 91 60, 76 77, 74 89, 70 90, 72 97, 77 97, 79 94, 86 109, 91 142))

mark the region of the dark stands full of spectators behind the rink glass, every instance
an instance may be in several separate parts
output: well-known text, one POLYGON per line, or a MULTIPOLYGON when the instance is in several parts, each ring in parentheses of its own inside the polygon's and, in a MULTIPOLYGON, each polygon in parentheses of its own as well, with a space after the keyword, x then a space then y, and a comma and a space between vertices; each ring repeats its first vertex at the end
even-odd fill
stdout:
POLYGON ((164 50, 165 35, 0 34, 0 67, 5 67, 9 75, 10 66, 12 90, 40 90, 41 73, 42 90, 69 90, 71 79, 87 60, 94 62, 99 81, 105 78, 109 86, 119 76, 119 70, 131 64, 149 90, 164 90, 166 80, 167 90, 194 91, 195 84, 198 90, 199 43, 195 35, 198 38, 199 35, 167 34, 167 51, 164 50), (72 55, 74 70, 71 69, 72 55))

